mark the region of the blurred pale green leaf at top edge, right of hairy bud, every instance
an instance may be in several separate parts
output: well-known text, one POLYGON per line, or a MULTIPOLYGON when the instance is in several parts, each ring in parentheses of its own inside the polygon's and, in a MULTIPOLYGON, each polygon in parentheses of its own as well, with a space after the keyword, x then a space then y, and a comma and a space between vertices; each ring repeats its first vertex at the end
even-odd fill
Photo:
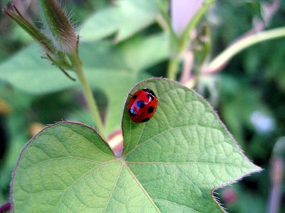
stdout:
POLYGON ((125 40, 149 26, 159 15, 156 0, 120 0, 98 11, 83 25, 81 40, 98 40, 117 33, 115 40, 125 40))

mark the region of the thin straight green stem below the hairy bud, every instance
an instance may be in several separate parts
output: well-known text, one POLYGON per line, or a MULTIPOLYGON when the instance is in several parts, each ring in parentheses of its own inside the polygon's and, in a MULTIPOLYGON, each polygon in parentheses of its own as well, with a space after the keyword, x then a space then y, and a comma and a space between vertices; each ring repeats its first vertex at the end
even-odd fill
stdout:
POLYGON ((97 127, 98 133, 103 139, 105 139, 105 129, 103 126, 103 121, 100 117, 100 113, 97 104, 95 102, 95 99, 93 97, 90 85, 86 79, 86 75, 83 72, 82 69, 83 62, 81 61, 81 59, 78 57, 77 54, 69 55, 69 57, 71 58, 71 61, 73 63, 73 70, 76 72, 76 75, 78 76, 78 79, 80 80, 81 85, 83 87, 83 92, 86 97, 86 102, 95 121, 95 126, 97 127))

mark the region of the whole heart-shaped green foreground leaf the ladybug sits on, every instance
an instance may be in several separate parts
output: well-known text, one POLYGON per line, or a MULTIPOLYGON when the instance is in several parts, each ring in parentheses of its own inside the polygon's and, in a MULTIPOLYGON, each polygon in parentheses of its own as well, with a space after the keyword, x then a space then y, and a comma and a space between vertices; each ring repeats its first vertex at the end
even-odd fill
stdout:
POLYGON ((222 212, 215 188, 260 170, 198 94, 152 79, 155 115, 142 124, 123 115, 124 153, 115 158, 83 124, 59 123, 38 133, 14 170, 15 212, 222 212))

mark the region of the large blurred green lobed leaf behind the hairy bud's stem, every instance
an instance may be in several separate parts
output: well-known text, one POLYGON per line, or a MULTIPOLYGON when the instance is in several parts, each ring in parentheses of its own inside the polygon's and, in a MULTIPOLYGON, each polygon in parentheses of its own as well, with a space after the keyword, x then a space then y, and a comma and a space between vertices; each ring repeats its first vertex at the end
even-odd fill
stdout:
MULTIPOLYGON (((84 71, 91 87, 108 96, 105 119, 107 134, 119 128, 125 97, 135 82, 150 77, 147 67, 168 55, 165 34, 135 37, 120 45, 108 41, 81 43, 84 71), (151 49, 151 51, 150 51, 151 49), (150 52, 149 52, 150 51, 150 52)), ((47 60, 39 57, 37 45, 31 45, 0 65, 0 80, 33 94, 46 94, 78 86, 47 60)), ((72 74, 72 73, 71 73, 72 74)))

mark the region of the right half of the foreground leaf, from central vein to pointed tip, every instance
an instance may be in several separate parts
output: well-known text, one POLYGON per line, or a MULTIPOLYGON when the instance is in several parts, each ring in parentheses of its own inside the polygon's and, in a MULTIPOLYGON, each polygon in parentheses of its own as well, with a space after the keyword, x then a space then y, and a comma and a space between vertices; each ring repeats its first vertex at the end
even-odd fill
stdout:
POLYGON ((199 94, 162 79, 142 82, 133 92, 145 87, 155 92, 157 111, 150 121, 135 124, 125 107, 127 165, 161 211, 219 212, 213 189, 260 168, 199 94))

